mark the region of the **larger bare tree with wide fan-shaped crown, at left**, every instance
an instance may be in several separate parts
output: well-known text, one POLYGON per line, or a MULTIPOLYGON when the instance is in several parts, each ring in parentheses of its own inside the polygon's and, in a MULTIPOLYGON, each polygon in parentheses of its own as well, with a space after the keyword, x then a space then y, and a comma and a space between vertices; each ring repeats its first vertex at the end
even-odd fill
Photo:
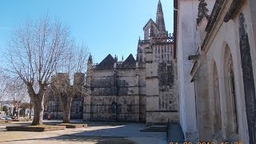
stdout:
POLYGON ((26 84, 34 107, 32 125, 42 125, 46 87, 72 42, 69 29, 62 22, 47 17, 38 22, 26 22, 14 31, 7 55, 8 70, 26 84))

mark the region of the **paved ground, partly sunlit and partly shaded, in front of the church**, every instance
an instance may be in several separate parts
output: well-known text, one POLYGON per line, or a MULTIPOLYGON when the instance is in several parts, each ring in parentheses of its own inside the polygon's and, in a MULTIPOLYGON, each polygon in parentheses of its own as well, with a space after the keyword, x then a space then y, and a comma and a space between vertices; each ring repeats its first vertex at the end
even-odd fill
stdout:
MULTIPOLYGON (((60 123, 47 121, 45 123, 60 123)), ((82 122, 78 122, 82 123, 82 122)), ((166 133, 140 132, 142 123, 88 123, 86 128, 46 132, 6 131, 6 126, 30 125, 30 122, 0 124, 0 143, 154 143, 165 144, 166 133)))

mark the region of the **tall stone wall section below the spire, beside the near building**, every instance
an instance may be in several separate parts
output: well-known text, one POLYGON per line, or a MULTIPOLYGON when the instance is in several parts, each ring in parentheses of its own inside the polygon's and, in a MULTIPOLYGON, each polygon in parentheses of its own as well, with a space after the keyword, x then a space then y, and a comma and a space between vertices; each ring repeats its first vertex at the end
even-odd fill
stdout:
POLYGON ((139 45, 146 58, 146 122, 179 121, 177 63, 172 42, 139 45))

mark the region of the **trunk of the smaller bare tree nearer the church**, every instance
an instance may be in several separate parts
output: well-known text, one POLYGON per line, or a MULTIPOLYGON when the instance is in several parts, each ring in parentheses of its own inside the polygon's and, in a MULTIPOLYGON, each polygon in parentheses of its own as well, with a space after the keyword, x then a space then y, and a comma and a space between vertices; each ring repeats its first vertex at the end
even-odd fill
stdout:
MULTIPOLYGON (((63 97, 62 97, 63 98, 63 97)), ((72 98, 67 97, 66 103, 62 103, 63 106, 63 123, 70 123, 70 108, 71 108, 72 98)))

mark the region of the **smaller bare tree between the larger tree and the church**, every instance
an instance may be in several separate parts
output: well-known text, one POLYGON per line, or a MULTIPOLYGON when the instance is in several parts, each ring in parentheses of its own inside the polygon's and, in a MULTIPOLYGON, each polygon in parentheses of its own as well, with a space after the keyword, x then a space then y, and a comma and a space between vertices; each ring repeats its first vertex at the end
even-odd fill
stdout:
POLYGON ((83 47, 72 46, 70 53, 66 54, 66 58, 63 58, 62 66, 58 66, 61 68, 58 74, 52 78, 50 88, 62 103, 63 123, 70 123, 70 108, 74 96, 83 96, 85 74, 82 71, 86 69, 88 55, 83 47))

